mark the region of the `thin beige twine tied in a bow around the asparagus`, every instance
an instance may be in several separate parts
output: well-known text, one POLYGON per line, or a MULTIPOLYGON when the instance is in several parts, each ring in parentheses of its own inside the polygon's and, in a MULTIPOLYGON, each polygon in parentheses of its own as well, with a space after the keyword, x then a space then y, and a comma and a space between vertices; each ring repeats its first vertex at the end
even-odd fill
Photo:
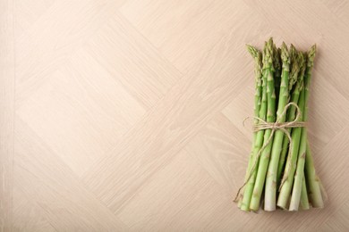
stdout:
MULTIPOLYGON (((302 128, 302 127, 305 127, 306 126, 305 121, 298 121, 301 118, 301 115, 302 115, 302 112, 301 112, 301 109, 299 108, 299 106, 297 104, 294 104, 294 103, 289 103, 289 104, 285 105, 284 111, 279 115, 279 117, 278 117, 276 122, 268 122, 266 120, 260 119, 259 117, 247 117, 245 119, 245 120, 248 120, 248 119, 252 118, 252 119, 255 119, 255 120, 259 121, 258 124, 253 125, 253 127, 252 127, 252 131, 253 132, 258 132, 258 131, 263 130, 263 129, 271 129, 271 133, 270 133, 270 136, 268 137, 268 140, 264 143, 264 145, 258 151, 258 153, 256 155, 256 158, 255 158, 255 161, 253 163, 253 166, 252 166, 252 168, 250 170, 250 173, 248 175, 248 178, 243 183, 243 186, 241 186, 239 188, 239 190, 237 191, 237 194, 236 194, 235 199, 234 199, 235 203, 237 202, 237 200, 239 198, 239 195, 240 195, 240 192, 243 189, 243 187, 246 186, 247 183, 250 181, 253 171, 256 170, 257 162, 260 159, 260 154, 263 152, 263 150, 271 142, 271 140, 272 140, 272 138, 274 136, 274 133, 275 133, 275 131, 277 129, 280 129, 281 131, 283 131, 285 133, 285 135, 287 136, 288 140, 290 141, 290 145, 289 145, 290 149, 288 149, 287 162, 286 162, 286 163, 288 163, 288 166, 286 167, 286 171, 284 173, 284 177, 283 177, 283 179, 281 181, 281 184, 280 184, 280 187, 279 187, 279 190, 281 189, 281 187, 284 185, 285 181, 288 178, 289 172, 291 170, 291 165, 292 165, 292 163, 291 163, 291 155, 292 155, 293 141, 292 141, 292 137, 291 137, 290 132, 287 131, 287 128, 302 128), (279 120, 284 118, 285 113, 287 112, 288 108, 290 108, 292 105, 295 107, 296 112, 297 112, 296 117, 294 118, 294 120, 287 121, 287 122, 280 122, 279 120)), ((243 125, 244 125, 245 120, 243 120, 243 125)))

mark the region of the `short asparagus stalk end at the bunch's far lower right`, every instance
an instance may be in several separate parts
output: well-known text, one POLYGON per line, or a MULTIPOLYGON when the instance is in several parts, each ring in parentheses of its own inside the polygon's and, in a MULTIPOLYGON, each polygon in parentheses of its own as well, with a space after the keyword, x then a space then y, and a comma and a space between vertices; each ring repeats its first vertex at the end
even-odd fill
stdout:
POLYGON ((312 207, 323 208, 324 202, 321 195, 319 178, 316 176, 314 161, 311 155, 311 146, 307 143, 307 153, 305 155, 305 178, 309 189, 309 198, 312 207))

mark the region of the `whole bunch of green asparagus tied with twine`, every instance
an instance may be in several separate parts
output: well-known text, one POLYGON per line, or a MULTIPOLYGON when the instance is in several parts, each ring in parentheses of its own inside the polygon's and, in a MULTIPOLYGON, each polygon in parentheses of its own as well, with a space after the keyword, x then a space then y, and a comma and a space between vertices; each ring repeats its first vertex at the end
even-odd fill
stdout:
MULTIPOLYGON (((303 53, 285 43, 277 48, 270 38, 262 52, 247 48, 255 61, 254 125, 307 121, 316 46, 303 53)), ((265 211, 321 208, 323 198, 306 127, 267 127, 253 133, 245 183, 235 199, 241 210, 258 211, 260 205, 265 211)))

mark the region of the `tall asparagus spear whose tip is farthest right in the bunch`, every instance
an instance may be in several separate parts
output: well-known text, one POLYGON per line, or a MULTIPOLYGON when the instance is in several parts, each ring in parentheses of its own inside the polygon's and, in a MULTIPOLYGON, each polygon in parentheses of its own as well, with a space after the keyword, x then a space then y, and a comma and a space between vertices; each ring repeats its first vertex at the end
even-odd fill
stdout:
MULTIPOLYGON (((308 100, 309 100, 309 88, 311 83, 311 68, 314 65, 314 57, 316 53, 316 46, 311 46, 311 50, 308 53, 307 70, 304 76, 304 108, 303 108, 303 120, 308 120, 308 100)), ((298 153, 297 169, 294 175, 294 188, 291 196, 290 211, 298 211, 299 203, 301 200, 302 191, 302 179, 304 174, 304 162, 305 153, 307 149, 307 128, 302 128, 301 145, 298 153)))

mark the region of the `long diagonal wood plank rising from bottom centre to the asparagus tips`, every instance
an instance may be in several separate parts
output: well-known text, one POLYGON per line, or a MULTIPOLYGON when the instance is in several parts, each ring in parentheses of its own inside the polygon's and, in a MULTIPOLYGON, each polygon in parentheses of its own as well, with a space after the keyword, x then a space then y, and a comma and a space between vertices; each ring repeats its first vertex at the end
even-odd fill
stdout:
MULTIPOLYGON (((244 20, 254 19, 245 15, 244 20)), ((246 76, 241 44, 247 35, 256 36, 260 24, 254 26, 240 37, 234 32, 223 37, 196 72, 180 79, 115 150, 89 170, 86 184, 113 211, 123 208, 158 168, 243 89, 243 79, 234 77, 246 76)))

